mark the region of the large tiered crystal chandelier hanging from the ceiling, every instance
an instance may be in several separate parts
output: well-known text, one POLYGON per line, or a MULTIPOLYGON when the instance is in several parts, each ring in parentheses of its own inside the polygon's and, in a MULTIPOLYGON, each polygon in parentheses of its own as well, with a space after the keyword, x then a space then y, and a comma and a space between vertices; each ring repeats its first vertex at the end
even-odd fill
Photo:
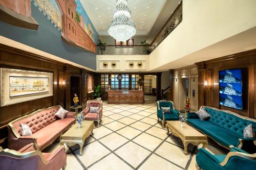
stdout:
POLYGON ((118 41, 126 41, 136 33, 136 25, 131 19, 131 10, 127 7, 128 0, 117 0, 108 32, 118 41))

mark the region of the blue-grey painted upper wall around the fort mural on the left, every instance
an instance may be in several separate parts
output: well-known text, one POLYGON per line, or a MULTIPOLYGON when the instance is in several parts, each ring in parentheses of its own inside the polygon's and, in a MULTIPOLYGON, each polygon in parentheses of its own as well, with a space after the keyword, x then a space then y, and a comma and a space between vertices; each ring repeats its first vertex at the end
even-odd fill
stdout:
POLYGON ((96 70, 96 54, 86 52, 61 40, 61 33, 31 2, 33 18, 39 23, 38 30, 29 30, 8 25, 0 21, 0 35, 37 48, 57 57, 96 70))

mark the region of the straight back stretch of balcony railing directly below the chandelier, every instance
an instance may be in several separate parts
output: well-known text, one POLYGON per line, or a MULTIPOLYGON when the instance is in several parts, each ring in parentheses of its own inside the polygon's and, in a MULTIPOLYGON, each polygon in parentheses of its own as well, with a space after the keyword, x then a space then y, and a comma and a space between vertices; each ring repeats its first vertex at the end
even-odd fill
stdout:
POLYGON ((148 55, 150 45, 98 45, 99 55, 148 55))

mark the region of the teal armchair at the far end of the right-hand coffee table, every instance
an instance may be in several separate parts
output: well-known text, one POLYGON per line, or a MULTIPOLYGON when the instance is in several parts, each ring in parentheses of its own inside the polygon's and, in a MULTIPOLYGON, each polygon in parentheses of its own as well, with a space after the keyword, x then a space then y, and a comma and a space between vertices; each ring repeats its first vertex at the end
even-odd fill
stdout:
POLYGON ((164 128, 165 120, 179 120, 179 111, 175 110, 172 101, 157 101, 157 118, 158 122, 162 121, 162 128, 164 128), (161 107, 170 107, 170 113, 164 113, 161 107))

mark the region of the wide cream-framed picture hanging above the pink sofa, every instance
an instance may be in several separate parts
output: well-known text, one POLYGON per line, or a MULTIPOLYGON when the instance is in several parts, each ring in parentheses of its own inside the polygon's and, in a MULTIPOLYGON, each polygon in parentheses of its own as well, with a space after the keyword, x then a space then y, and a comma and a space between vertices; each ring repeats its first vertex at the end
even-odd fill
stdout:
POLYGON ((0 68, 0 106, 46 98, 53 95, 53 74, 0 68))

